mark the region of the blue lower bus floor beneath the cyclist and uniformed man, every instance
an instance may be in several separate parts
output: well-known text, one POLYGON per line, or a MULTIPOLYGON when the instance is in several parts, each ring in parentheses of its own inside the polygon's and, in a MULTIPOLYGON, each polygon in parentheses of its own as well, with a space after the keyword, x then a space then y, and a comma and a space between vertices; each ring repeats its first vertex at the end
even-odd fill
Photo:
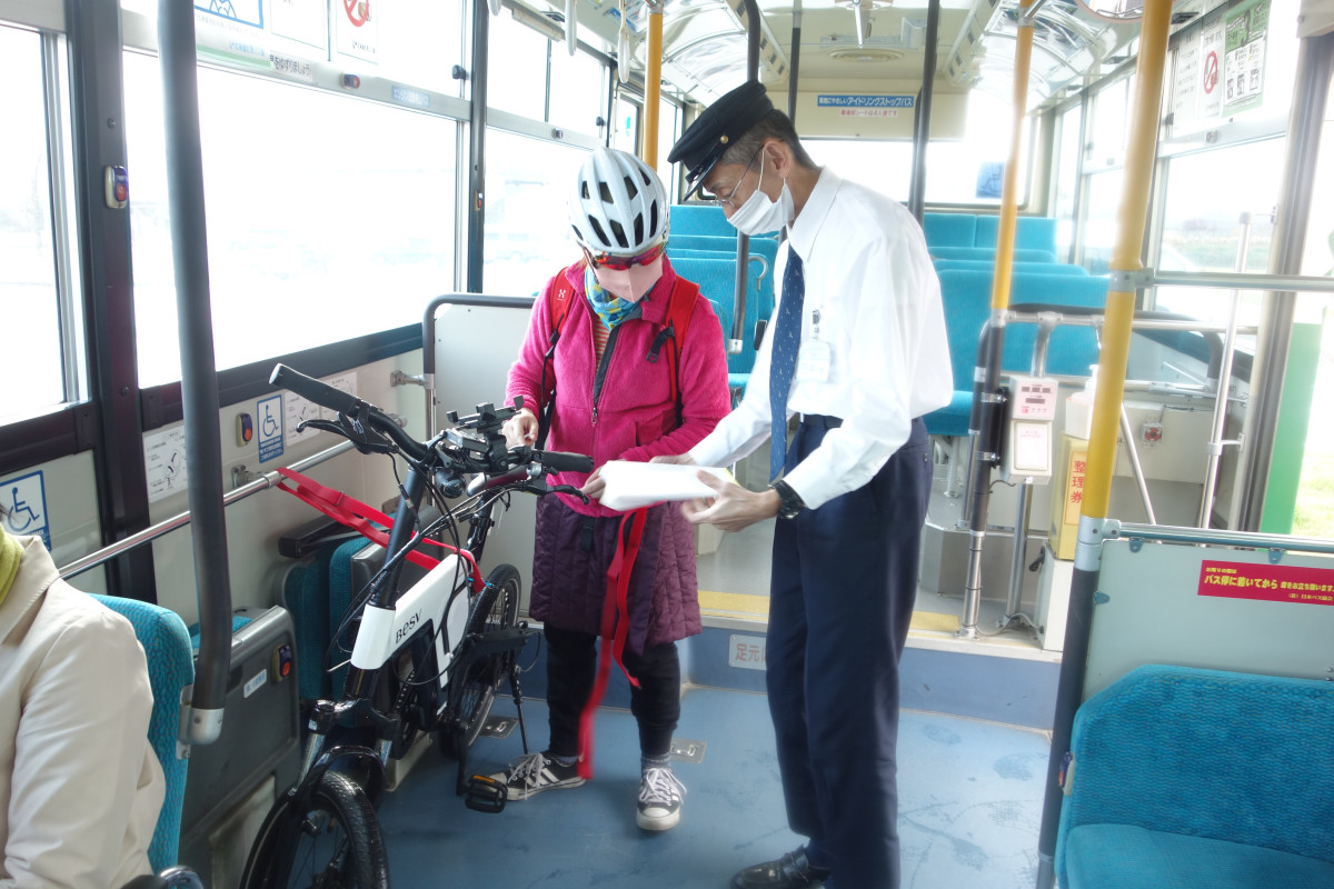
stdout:
MULTIPOLYGON (((512 714, 511 701, 496 713, 512 714)), ((542 749, 547 712, 524 702, 542 749)), ((743 866, 795 849, 774 753, 767 698, 687 686, 678 742, 703 745, 678 761, 682 821, 662 833, 635 825, 639 750, 634 717, 602 708, 595 777, 567 790, 472 812, 454 794, 456 766, 435 749, 382 806, 395 889, 724 889, 743 866)), ((1049 736, 996 722, 904 710, 899 722, 903 889, 1027 889, 1035 882, 1049 736)), ((471 770, 520 754, 519 733, 479 738, 471 770)), ((858 888, 872 889, 872 888, 858 888)))

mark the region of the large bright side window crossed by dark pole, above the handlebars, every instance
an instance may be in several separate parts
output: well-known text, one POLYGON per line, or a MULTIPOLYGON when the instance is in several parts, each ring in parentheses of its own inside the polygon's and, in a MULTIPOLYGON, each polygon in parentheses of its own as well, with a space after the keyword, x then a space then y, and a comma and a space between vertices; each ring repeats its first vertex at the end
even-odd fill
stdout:
MULTIPOLYGON (((140 385, 180 377, 161 72, 125 53, 140 385)), ((454 288, 456 121, 199 69, 217 368, 420 319, 454 288), (260 320, 263 319, 263 323, 260 320)))

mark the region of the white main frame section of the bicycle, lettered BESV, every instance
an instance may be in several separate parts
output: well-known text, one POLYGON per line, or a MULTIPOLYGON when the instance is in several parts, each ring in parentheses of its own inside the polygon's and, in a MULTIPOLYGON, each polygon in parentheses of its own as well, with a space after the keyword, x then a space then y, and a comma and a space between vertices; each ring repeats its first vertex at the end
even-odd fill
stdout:
MULTIPOLYGON (((362 628, 352 645, 352 666, 363 670, 384 666, 390 657, 416 636, 426 621, 427 632, 435 638, 435 662, 439 670, 436 681, 443 692, 450 682, 454 646, 468 629, 471 580, 472 574, 462 570, 458 556, 446 556, 426 577, 404 590, 394 608, 367 606, 362 612, 362 628)), ((444 706, 446 698, 442 694, 440 709, 444 706)))

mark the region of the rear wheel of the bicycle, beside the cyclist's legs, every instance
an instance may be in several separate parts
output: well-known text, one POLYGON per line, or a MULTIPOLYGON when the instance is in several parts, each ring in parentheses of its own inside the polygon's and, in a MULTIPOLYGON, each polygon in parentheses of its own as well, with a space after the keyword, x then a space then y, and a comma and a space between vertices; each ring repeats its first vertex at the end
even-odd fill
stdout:
MULTIPOLYGON (((478 602, 468 617, 470 633, 491 633, 510 629, 519 621, 519 596, 523 580, 514 565, 496 565, 487 574, 486 589, 478 596, 478 602)), ((440 749, 458 757, 472 749, 482 726, 491 714, 496 688, 514 664, 514 653, 491 654, 468 665, 462 676, 450 678, 450 713, 454 714, 452 729, 440 732, 440 749)))

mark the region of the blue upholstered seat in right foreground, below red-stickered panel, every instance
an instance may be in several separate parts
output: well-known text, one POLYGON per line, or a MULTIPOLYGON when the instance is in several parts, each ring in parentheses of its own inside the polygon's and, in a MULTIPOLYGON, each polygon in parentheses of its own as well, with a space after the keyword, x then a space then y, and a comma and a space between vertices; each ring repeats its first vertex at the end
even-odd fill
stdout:
POLYGON ((1334 684, 1150 665, 1075 714, 1066 889, 1334 886, 1334 684))

